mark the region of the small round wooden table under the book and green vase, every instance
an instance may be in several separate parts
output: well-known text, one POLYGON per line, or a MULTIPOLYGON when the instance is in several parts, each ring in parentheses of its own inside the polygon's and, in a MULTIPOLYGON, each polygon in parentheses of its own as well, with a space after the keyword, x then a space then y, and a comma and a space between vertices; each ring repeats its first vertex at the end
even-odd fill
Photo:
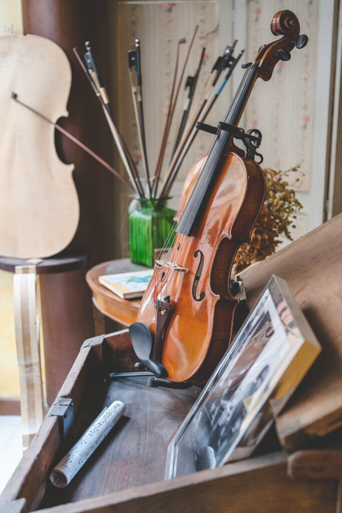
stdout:
MULTIPOLYGON (((103 274, 114 274, 117 272, 141 271, 146 269, 143 265, 132 264, 128 259, 112 260, 92 267, 86 274, 86 280, 93 292, 93 304, 102 315, 106 315, 113 321, 125 327, 136 322, 141 298, 122 299, 109 289, 101 285, 98 277, 103 274)), ((103 334, 102 324, 96 312, 94 312, 95 334, 103 334)))

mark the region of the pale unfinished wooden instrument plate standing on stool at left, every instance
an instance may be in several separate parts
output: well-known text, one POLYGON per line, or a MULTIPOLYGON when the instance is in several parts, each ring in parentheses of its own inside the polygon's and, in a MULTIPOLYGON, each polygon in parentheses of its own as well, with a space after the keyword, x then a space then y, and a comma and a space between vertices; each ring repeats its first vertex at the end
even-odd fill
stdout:
POLYGON ((67 116, 71 69, 59 46, 37 35, 0 37, 0 254, 49 257, 73 239, 79 205, 72 164, 59 160, 53 122, 67 116))

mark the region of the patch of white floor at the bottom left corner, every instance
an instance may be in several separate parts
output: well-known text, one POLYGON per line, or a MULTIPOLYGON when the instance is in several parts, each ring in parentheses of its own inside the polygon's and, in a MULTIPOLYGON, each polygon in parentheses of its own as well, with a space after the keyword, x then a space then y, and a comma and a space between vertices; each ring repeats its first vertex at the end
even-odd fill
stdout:
POLYGON ((21 417, 0 415, 0 494, 22 456, 21 417))

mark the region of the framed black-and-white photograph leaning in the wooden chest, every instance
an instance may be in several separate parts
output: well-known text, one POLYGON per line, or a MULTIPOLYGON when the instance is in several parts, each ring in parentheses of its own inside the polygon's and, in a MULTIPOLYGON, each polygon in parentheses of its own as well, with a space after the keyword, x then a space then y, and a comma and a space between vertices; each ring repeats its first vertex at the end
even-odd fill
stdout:
POLYGON ((170 443, 165 479, 250 456, 319 351, 287 283, 273 275, 170 443))

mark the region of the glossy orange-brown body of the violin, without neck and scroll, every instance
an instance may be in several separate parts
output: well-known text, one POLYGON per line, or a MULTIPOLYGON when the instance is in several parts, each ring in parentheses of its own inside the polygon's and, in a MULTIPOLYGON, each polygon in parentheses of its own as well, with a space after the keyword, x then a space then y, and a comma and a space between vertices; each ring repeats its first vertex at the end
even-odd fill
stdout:
MULTIPOLYGON (((205 157, 200 157, 189 171, 181 204, 205 157)), ((155 333, 155 282, 162 280, 164 272, 164 285, 158 294, 170 296, 171 310, 162 364, 171 381, 207 381, 229 345, 238 303, 229 292, 231 268, 240 244, 250 240, 265 190, 260 166, 229 151, 193 236, 176 236, 172 261, 188 272, 154 269, 138 321, 155 333)))

